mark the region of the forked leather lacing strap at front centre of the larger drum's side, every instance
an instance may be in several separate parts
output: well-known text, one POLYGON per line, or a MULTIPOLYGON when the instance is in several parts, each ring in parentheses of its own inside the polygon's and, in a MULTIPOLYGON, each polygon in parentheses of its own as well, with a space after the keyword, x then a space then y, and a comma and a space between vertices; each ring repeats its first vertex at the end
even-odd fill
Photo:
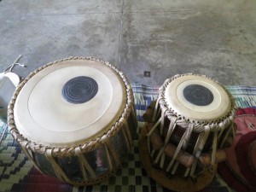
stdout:
POLYGON ((96 178, 96 174, 90 167, 88 161, 85 159, 84 154, 82 154, 81 148, 79 147, 75 148, 75 154, 77 154, 77 156, 79 157, 80 167, 82 168, 82 174, 83 174, 84 180, 85 181, 88 180, 86 171, 90 173, 90 176, 92 178, 96 178))

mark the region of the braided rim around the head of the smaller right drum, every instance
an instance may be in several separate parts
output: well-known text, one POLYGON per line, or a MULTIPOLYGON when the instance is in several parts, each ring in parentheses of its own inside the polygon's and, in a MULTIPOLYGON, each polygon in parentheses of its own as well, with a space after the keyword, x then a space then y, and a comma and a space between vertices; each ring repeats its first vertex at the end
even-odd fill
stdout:
POLYGON ((185 73, 185 74, 177 74, 173 76, 171 79, 166 79, 165 83, 160 87, 159 89, 159 96, 158 100, 160 103, 160 108, 163 111, 166 111, 166 116, 168 119, 171 120, 171 116, 177 117, 177 125, 182 125, 183 127, 188 127, 189 123, 195 124, 195 131, 204 131, 204 125, 210 125, 212 131, 218 131, 221 126, 230 124, 230 121, 234 120, 235 114, 236 114, 236 102, 234 97, 230 94, 230 91, 227 90, 222 84, 218 83, 217 80, 207 77, 206 75, 201 74, 194 74, 194 73, 185 73), (168 105, 165 101, 165 91, 168 84, 170 84, 175 79, 181 78, 183 76, 187 75, 195 75, 204 77, 207 79, 210 79, 220 85, 228 94, 230 97, 230 110, 224 115, 224 117, 221 117, 219 119, 212 119, 211 121, 206 120, 195 120, 195 119, 189 119, 187 117, 184 117, 183 114, 177 113, 177 111, 174 108, 168 108, 168 105), (227 120, 225 120, 227 119, 227 120), (184 126, 185 125, 185 126, 184 126), (217 129, 217 130, 216 130, 217 129))

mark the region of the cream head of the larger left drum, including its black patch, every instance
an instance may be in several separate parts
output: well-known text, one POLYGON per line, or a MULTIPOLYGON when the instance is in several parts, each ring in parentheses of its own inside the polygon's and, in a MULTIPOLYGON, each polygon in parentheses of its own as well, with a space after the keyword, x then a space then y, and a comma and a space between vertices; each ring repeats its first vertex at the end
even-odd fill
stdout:
POLYGON ((58 61, 22 87, 15 125, 34 143, 72 147, 102 137, 119 120, 125 102, 124 82, 103 61, 58 61))

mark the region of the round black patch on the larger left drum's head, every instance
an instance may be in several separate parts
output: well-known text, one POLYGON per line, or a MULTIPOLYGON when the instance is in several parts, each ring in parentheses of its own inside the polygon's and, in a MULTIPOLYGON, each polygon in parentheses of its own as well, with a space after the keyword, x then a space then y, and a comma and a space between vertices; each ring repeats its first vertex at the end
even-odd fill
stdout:
POLYGON ((67 81, 62 88, 62 96, 67 102, 79 104, 90 101, 98 91, 96 80, 79 76, 67 81))

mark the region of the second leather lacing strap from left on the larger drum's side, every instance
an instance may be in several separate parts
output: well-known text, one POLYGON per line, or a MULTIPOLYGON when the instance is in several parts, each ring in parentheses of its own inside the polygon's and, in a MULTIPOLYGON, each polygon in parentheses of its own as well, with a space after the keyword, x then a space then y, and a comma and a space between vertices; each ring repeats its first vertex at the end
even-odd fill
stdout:
POLYGON ((56 177, 67 183, 71 183, 70 179, 67 177, 66 173, 62 170, 61 166, 56 162, 55 158, 52 155, 52 149, 46 149, 46 157, 49 162, 52 164, 55 170, 56 177))

